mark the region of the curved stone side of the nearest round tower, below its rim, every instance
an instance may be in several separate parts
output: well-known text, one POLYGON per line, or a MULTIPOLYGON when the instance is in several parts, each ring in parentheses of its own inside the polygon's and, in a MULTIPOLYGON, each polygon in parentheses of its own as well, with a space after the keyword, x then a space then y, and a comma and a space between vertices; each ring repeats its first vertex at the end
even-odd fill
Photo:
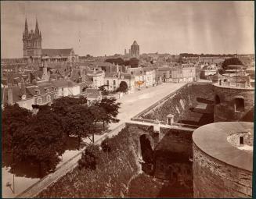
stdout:
POLYGON ((251 197, 251 182, 252 172, 220 162, 193 144, 194 197, 251 197))

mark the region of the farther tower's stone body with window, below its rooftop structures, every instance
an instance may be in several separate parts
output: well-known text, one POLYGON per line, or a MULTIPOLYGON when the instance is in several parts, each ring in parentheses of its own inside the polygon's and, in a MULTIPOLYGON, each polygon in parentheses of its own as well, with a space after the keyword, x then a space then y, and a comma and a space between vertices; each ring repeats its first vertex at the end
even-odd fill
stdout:
POLYGON ((215 123, 254 121, 254 88, 224 87, 214 84, 214 90, 215 123))

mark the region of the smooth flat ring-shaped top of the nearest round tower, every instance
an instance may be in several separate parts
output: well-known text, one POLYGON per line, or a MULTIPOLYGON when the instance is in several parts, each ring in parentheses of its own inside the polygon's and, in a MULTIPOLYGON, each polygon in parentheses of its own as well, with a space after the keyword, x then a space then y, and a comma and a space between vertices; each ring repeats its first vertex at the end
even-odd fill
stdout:
POLYGON ((227 138, 235 133, 254 133, 254 123, 223 122, 200 126, 193 132, 193 143, 212 158, 228 165, 252 172, 253 155, 229 143, 227 138))

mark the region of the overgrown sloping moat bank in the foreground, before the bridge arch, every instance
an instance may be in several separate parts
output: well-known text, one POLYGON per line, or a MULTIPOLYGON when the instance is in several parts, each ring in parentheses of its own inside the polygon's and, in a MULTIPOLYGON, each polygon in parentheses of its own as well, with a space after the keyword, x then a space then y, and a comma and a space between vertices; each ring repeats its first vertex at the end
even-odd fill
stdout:
MULTIPOLYGON (((128 128, 106 140, 109 141, 110 151, 91 147, 86 152, 87 155, 97 154, 96 168, 88 166, 94 165, 95 159, 88 161, 86 158, 86 163, 78 165, 37 197, 121 197, 121 190, 139 171, 137 148, 128 128)), ((85 160, 84 157, 81 159, 85 160)))

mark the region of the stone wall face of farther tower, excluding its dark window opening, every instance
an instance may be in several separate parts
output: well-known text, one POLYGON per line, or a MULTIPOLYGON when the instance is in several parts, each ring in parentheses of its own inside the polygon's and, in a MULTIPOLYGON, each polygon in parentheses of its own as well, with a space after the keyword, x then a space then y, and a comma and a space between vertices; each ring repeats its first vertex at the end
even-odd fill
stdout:
POLYGON ((214 86, 214 90, 215 98, 218 95, 220 99, 220 103, 215 105, 215 123, 240 121, 254 108, 254 89, 214 86), (243 111, 235 111, 236 97, 244 99, 243 111))

